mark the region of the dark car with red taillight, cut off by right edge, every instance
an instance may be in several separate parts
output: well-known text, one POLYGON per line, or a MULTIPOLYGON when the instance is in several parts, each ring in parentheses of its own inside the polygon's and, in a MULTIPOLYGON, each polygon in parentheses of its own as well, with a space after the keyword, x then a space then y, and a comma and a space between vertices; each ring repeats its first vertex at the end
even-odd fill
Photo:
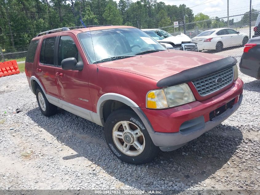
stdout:
POLYGON ((260 36, 249 39, 244 46, 239 68, 242 73, 260 79, 260 36))

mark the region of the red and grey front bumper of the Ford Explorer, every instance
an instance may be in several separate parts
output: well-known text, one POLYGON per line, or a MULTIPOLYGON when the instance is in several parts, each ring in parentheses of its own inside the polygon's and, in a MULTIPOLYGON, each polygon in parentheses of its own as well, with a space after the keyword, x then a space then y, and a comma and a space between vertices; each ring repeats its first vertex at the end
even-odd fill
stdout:
POLYGON ((201 102, 163 110, 142 108, 146 116, 142 121, 149 121, 145 126, 153 143, 163 151, 171 151, 226 120, 240 106, 242 92, 243 81, 238 78, 225 91, 201 102))

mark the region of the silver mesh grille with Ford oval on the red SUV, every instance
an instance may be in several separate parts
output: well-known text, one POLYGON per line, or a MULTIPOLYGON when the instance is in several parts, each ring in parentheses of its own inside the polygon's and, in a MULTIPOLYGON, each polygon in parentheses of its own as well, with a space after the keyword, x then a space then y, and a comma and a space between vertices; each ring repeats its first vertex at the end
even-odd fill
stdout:
POLYGON ((192 83, 196 87, 199 95, 206 96, 215 91, 222 89, 223 87, 226 87, 227 85, 232 83, 233 78, 234 78, 234 69, 233 67, 231 67, 223 71, 214 73, 212 75, 208 75, 201 79, 192 81, 192 83), (217 83, 216 79, 218 79, 219 77, 222 77, 222 81, 220 83, 217 83))

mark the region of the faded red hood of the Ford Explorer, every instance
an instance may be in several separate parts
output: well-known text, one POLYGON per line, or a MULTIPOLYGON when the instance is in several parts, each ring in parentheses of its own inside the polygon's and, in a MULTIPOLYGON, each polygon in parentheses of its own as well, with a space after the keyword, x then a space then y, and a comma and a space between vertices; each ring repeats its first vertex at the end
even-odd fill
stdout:
POLYGON ((98 66, 126 71, 159 81, 181 71, 223 58, 220 55, 194 51, 166 50, 98 63, 98 66))

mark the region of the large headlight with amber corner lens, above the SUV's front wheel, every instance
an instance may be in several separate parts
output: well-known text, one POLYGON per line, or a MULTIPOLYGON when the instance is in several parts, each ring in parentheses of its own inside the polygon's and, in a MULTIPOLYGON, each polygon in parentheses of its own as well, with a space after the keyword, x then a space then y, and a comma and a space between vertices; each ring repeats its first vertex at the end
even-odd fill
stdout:
POLYGON ((162 109, 180 106, 195 101, 190 87, 184 83, 173 87, 149 91, 146 108, 162 109))

